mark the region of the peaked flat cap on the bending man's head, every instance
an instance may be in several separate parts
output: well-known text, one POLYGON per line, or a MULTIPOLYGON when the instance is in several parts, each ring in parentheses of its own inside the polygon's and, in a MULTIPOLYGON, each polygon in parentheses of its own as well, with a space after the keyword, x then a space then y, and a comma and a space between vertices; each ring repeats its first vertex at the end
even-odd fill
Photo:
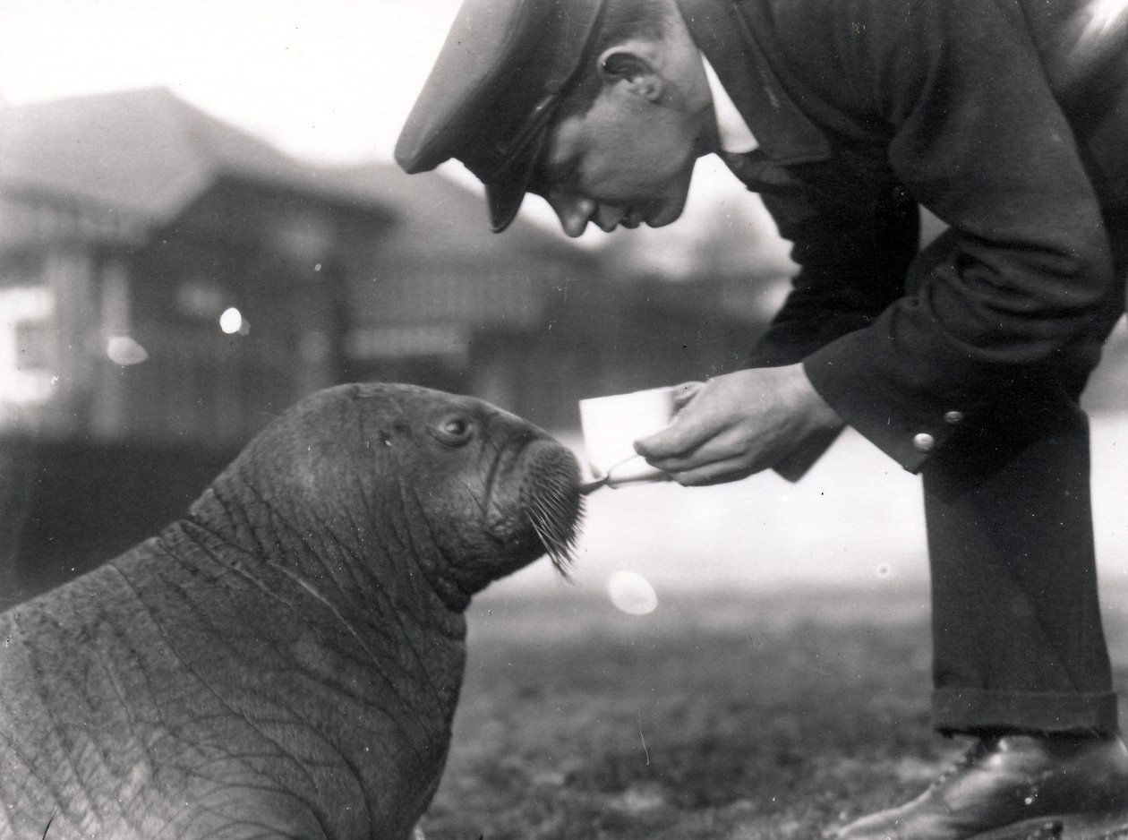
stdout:
POLYGON ((486 187, 490 220, 517 216, 548 123, 606 0, 465 0, 396 142, 408 173, 461 160, 486 187))

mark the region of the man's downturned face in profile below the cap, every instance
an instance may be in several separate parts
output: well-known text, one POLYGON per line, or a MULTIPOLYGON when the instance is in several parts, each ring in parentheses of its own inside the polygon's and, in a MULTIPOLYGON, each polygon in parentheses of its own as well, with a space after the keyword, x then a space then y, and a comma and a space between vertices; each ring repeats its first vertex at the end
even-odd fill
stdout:
POLYGON ((686 203, 698 134, 697 115, 609 85, 587 113, 552 128, 536 191, 569 236, 589 221, 606 231, 669 225, 686 203))

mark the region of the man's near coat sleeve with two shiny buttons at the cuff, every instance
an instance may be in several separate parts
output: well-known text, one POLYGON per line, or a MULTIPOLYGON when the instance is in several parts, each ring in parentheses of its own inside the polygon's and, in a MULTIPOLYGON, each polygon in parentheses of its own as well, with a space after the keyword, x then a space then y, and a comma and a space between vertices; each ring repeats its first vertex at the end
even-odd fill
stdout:
MULTIPOLYGON (((871 305, 891 303, 875 316, 852 314, 857 329, 831 330, 804 360, 846 422, 914 472, 961 418, 1006 399, 1010 384, 1090 329, 1112 283, 1100 208, 1069 126, 1004 7, 906 3, 913 18, 896 43, 880 46, 873 96, 890 126, 888 163, 950 226, 946 253, 896 297, 888 279, 870 283, 871 305)), ((844 252, 845 290, 830 291, 826 243, 836 224, 825 215, 794 230, 802 271, 774 330, 801 309, 851 312, 865 266, 844 252), (817 255, 810 268, 804 254, 817 255), (812 296, 817 303, 804 299, 812 296)))

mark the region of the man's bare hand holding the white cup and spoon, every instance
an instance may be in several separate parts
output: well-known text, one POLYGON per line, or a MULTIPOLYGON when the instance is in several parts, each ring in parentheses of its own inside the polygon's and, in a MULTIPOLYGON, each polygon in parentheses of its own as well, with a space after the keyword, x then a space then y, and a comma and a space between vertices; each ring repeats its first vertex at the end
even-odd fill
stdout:
POLYGON ((843 426, 802 365, 740 370, 687 393, 669 428, 635 443, 679 484, 743 479, 843 426))

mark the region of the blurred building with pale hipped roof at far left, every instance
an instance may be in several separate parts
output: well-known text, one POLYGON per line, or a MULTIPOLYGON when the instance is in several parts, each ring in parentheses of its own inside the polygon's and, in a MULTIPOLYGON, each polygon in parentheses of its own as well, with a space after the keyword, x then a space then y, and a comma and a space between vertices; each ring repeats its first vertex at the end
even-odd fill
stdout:
POLYGON ((0 428, 241 443, 340 378, 388 208, 161 89, 0 119, 0 428))

